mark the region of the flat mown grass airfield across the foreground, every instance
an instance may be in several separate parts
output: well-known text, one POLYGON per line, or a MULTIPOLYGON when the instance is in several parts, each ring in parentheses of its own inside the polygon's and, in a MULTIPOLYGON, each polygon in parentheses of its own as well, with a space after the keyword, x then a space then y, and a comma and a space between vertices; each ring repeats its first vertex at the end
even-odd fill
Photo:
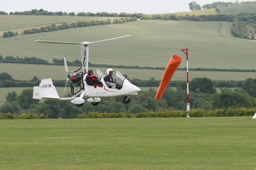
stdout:
POLYGON ((252 170, 251 117, 1 120, 0 169, 252 170))

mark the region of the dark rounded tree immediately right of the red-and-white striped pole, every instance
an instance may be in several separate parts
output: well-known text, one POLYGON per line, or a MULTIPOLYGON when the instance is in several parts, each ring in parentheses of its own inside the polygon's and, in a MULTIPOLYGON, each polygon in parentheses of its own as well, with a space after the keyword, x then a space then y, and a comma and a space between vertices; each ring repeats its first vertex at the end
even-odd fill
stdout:
POLYGON ((193 78, 189 83, 189 90, 198 93, 213 94, 216 92, 214 84, 210 78, 193 78))

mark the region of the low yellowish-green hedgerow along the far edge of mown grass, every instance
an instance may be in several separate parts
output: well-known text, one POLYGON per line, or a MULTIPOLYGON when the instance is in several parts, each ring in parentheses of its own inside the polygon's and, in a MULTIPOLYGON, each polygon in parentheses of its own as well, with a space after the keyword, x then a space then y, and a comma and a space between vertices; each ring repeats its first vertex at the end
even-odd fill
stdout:
MULTIPOLYGON (((237 108, 237 109, 214 109, 205 111, 203 109, 186 110, 164 110, 159 112, 140 112, 138 114, 131 113, 99 113, 99 112, 83 112, 77 115, 77 119, 97 119, 97 118, 180 118, 186 117, 187 113, 190 117, 232 117, 232 116, 253 116, 256 112, 255 108, 237 108)), ((48 115, 36 113, 22 113, 21 115, 11 113, 0 113, 0 119, 48 119, 48 115)))

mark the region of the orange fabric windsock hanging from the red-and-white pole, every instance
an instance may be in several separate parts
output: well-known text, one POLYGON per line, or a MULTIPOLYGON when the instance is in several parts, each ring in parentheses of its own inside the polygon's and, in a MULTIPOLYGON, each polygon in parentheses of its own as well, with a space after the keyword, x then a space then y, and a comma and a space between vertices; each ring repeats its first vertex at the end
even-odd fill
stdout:
POLYGON ((172 58, 170 59, 168 65, 165 68, 165 72, 163 74, 163 77, 161 79, 160 85, 158 87, 158 92, 155 95, 155 100, 160 100, 162 94, 165 91, 166 86, 170 82, 172 75, 178 68, 179 64, 182 62, 182 58, 179 55, 173 55, 172 58))

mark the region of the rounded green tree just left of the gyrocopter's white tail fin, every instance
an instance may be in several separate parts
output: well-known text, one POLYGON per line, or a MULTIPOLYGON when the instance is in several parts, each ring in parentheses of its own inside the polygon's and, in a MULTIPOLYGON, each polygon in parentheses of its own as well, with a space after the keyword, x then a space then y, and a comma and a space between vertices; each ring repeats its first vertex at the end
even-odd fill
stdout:
POLYGON ((21 106, 21 109, 29 109, 31 104, 39 103, 39 100, 33 99, 33 89, 25 89, 21 92, 20 95, 16 97, 18 105, 21 106))

